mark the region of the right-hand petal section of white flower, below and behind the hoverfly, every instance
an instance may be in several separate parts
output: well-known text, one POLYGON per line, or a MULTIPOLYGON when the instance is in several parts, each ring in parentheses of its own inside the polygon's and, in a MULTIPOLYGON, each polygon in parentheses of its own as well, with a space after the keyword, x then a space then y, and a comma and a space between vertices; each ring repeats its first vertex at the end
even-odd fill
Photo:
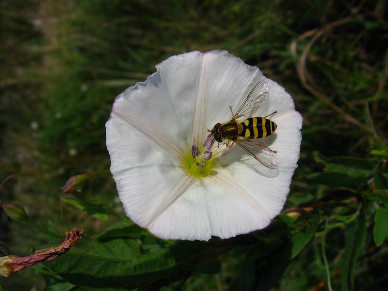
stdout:
MULTIPOLYGON (((239 183, 265 210, 270 220, 281 211, 290 192, 291 178, 297 167, 302 140, 300 132, 302 116, 293 109, 293 102, 289 102, 290 95, 284 90, 277 93, 272 100, 278 107, 270 108, 270 111, 279 109, 279 116, 276 118, 278 127, 273 135, 259 141, 265 141, 276 151, 279 168, 266 168, 241 148, 233 147, 226 148, 220 153, 222 156, 219 158, 220 168, 217 169, 218 175, 223 175, 236 184, 239 183)), ((270 106, 273 104, 270 103, 270 106)), ((257 229, 259 228, 261 226, 258 225, 257 229)))

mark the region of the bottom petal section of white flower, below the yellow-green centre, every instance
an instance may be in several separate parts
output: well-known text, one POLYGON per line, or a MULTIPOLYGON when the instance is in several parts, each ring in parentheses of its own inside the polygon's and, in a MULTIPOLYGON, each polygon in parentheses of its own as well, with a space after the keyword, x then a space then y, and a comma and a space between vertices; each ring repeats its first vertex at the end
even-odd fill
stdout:
POLYGON ((149 230, 163 239, 230 238, 263 228, 270 222, 252 197, 219 175, 195 181, 166 209, 149 230), (231 187, 232 186, 232 187, 231 187))

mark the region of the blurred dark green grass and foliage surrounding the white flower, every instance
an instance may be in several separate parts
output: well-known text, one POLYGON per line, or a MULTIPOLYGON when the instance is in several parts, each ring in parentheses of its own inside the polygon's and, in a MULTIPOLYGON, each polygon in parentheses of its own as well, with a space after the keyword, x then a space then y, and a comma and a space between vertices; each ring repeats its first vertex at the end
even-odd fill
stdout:
POLYGON ((118 279, 103 281, 115 290, 384 289, 387 13, 385 0, 1 1, 0 177, 18 175, 0 199, 45 229, 2 211, 2 248, 22 256, 57 242, 48 233, 79 226, 86 234, 59 259, 0 278, 0 290, 2 282, 90 290, 112 268, 118 279), (289 215, 227 241, 165 242, 122 215, 109 175, 61 196, 70 176, 109 168, 104 124, 114 97, 168 56, 195 49, 226 49, 294 97, 304 125, 289 215))

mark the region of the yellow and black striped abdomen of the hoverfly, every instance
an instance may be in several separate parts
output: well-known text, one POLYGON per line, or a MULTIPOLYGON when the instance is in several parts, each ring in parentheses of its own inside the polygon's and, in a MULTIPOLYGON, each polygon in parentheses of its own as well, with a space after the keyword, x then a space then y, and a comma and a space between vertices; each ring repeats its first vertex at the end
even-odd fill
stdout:
POLYGON ((275 122, 264 117, 251 117, 243 120, 242 130, 238 133, 243 138, 262 138, 274 133, 277 125, 275 122))

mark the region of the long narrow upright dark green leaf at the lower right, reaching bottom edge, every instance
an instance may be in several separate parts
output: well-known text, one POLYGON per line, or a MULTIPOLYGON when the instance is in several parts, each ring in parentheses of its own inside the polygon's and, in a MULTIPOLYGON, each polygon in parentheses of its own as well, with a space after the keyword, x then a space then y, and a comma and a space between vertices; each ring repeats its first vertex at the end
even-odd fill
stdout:
POLYGON ((347 226, 345 231, 345 254, 342 259, 340 276, 343 291, 354 289, 356 260, 364 247, 366 233, 365 215, 361 210, 358 217, 347 226))

